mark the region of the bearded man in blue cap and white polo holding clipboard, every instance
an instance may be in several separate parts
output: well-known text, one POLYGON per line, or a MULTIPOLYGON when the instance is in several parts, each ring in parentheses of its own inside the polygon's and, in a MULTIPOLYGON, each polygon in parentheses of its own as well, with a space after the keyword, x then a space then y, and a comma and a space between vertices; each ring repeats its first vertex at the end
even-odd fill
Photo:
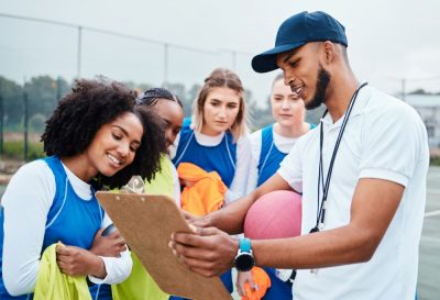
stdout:
MULTIPOLYGON (((358 81, 344 27, 324 12, 301 12, 278 29, 275 47, 252 67, 283 69, 285 84, 327 111, 278 171, 254 192, 202 219, 170 246, 194 271, 234 265, 295 268, 295 299, 414 299, 429 165, 427 133, 406 103, 358 81), (240 241, 246 211, 265 193, 302 193, 301 236, 240 241), (219 230, 220 229, 220 230, 219 230)), ((274 199, 276 201, 276 199, 274 199)))

